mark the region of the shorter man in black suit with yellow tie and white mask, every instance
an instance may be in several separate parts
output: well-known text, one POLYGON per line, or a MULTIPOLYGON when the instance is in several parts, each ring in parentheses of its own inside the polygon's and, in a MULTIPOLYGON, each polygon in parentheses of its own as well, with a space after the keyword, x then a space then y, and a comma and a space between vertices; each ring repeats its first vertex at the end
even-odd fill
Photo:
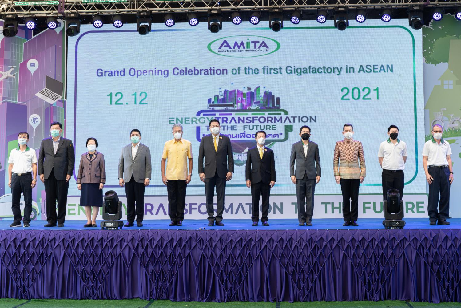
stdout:
POLYGON ((254 135, 257 145, 247 152, 246 178, 247 187, 251 188, 251 220, 252 226, 257 226, 259 221, 259 198, 262 197, 263 226, 268 226, 267 214, 269 212, 269 195, 275 184, 274 151, 266 148, 266 132, 258 131, 254 135))

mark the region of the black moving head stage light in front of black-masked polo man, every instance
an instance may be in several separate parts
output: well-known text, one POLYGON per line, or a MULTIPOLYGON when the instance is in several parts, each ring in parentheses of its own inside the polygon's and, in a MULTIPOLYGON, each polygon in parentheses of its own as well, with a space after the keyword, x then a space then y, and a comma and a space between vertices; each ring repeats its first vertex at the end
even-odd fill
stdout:
POLYGON ((385 229, 403 229, 403 201, 400 199, 400 192, 397 189, 389 189, 387 198, 383 202, 385 229))

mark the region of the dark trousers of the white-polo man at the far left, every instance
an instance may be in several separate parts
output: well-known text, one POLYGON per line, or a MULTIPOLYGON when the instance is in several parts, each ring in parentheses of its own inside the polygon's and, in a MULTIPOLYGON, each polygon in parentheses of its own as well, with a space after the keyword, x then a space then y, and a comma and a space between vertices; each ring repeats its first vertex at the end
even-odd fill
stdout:
POLYGON ((15 223, 21 221, 21 193, 24 194, 24 223, 30 223, 30 214, 32 213, 32 175, 29 173, 21 176, 12 174, 11 176, 11 195, 13 219, 15 223))

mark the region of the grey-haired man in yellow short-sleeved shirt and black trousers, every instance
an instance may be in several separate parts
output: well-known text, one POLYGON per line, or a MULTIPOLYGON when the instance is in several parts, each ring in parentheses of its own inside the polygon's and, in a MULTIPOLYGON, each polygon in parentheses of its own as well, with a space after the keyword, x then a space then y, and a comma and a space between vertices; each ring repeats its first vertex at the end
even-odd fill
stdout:
POLYGON ((168 191, 170 226, 182 226, 184 205, 186 204, 186 186, 192 176, 192 146, 189 140, 183 139, 183 126, 181 124, 173 125, 173 137, 173 139, 166 141, 163 147, 162 181, 168 191), (188 159, 189 172, 187 171, 188 159))

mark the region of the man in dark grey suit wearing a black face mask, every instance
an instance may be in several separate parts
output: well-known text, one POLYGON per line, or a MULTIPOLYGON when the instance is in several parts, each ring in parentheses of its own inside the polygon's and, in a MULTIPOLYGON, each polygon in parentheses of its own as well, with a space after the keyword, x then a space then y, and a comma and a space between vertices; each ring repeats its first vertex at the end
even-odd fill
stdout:
POLYGON ((291 146, 290 176, 291 181, 296 185, 299 225, 303 226, 306 223, 307 226, 312 226, 315 184, 319 183, 320 176, 322 176, 319 147, 315 142, 309 141, 310 127, 302 126, 299 129, 299 136, 301 141, 291 146), (306 208, 304 208, 304 202, 306 202, 306 208))

